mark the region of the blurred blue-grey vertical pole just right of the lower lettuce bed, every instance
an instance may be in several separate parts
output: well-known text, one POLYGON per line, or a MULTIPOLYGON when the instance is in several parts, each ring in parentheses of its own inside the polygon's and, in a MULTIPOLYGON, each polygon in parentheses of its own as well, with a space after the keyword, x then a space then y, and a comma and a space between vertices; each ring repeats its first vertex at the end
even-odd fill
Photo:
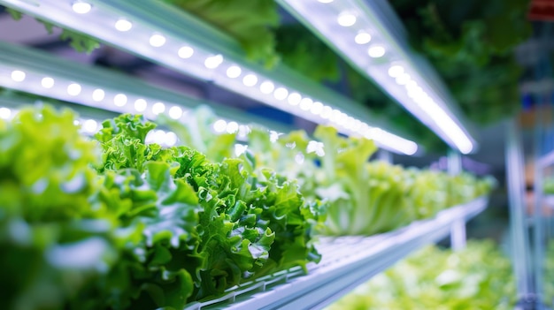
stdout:
POLYGON ((523 147, 519 124, 515 118, 506 122, 506 180, 510 202, 510 232, 512 238, 513 269, 519 299, 532 296, 530 248, 524 203, 523 147))

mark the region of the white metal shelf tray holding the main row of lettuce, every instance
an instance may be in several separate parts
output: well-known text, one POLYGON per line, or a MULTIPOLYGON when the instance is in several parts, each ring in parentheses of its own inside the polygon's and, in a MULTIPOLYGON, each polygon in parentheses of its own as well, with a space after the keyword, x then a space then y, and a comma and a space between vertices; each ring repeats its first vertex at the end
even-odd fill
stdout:
POLYGON ((185 310, 322 308, 412 251, 448 236, 452 224, 478 215, 487 203, 488 198, 481 197, 372 237, 321 238, 317 247, 322 261, 309 265, 307 275, 301 268, 291 268, 242 284, 222 298, 192 303, 185 310))

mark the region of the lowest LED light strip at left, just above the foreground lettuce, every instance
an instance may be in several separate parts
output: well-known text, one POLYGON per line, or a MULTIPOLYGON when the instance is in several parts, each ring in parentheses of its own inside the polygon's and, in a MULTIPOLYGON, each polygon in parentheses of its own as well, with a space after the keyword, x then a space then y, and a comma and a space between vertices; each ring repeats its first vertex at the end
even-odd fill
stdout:
MULTIPOLYGON (((201 104, 214 105, 119 72, 76 64, 5 42, 0 42, 0 86, 117 113, 140 113, 151 119, 164 113, 187 121, 189 109, 201 104)), ((244 127, 239 123, 258 123, 278 131, 290 129, 228 107, 219 106, 215 110, 219 116, 225 116, 227 132, 234 132, 235 124, 238 129, 244 127)))

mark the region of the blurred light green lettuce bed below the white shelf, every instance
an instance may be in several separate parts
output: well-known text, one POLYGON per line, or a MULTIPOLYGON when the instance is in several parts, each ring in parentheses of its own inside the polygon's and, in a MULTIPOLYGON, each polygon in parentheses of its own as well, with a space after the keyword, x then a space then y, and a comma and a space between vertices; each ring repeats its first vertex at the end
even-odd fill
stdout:
POLYGON ((491 240, 459 251, 427 246, 339 299, 327 310, 513 309, 510 260, 491 240))

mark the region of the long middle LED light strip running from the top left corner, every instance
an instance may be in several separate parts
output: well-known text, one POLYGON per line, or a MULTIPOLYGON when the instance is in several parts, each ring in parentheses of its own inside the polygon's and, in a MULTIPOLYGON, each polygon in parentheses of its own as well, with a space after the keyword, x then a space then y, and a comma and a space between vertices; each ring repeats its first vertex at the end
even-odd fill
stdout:
MULTIPOLYGON (((165 4, 99 0, 44 0, 40 5, 0 0, 0 4, 92 35, 179 72, 212 80, 221 87, 317 124, 330 123, 342 133, 371 137, 383 148, 407 155, 417 151, 417 144, 393 133, 373 136, 374 127, 366 124, 372 117, 367 110, 355 107, 354 102, 287 70, 268 72, 244 61, 236 42, 165 4), (336 108, 338 104, 342 109, 336 108), (385 140, 383 136, 394 139, 385 140)), ((378 121, 371 123, 383 127, 378 121)))

